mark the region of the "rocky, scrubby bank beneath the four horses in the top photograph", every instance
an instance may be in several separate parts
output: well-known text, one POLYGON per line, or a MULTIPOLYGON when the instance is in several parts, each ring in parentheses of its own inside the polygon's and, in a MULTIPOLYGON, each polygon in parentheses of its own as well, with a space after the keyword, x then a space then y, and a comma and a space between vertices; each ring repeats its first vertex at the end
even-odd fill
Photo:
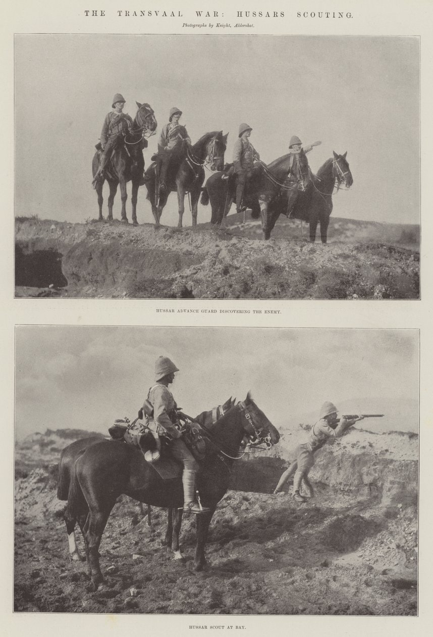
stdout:
POLYGON ((196 299, 414 299, 419 227, 332 218, 329 243, 278 220, 230 215, 223 229, 18 218, 16 296, 196 299), (303 233, 303 234, 301 234, 303 233))

